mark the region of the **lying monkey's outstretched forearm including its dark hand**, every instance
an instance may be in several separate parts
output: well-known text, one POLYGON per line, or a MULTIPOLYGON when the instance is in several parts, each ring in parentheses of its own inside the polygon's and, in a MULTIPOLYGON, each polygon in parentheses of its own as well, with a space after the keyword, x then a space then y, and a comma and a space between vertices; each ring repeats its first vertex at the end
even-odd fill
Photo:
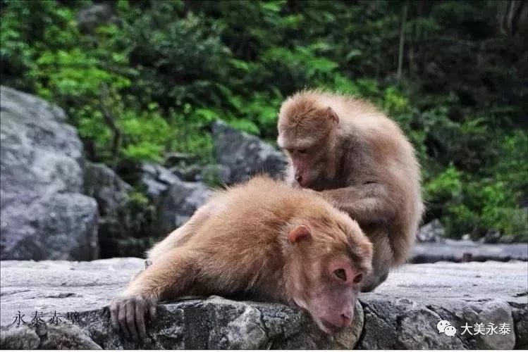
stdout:
POLYGON ((110 306, 113 328, 132 341, 147 337, 145 320, 152 321, 160 298, 178 297, 195 281, 192 251, 178 248, 159 258, 130 282, 110 306))

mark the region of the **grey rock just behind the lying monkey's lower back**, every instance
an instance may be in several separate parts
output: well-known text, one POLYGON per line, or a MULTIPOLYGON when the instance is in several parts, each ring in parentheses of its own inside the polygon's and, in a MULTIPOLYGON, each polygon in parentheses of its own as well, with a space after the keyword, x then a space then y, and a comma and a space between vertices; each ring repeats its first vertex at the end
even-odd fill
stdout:
POLYGON ((210 195, 211 190, 201 182, 173 182, 159 202, 159 234, 168 234, 183 225, 210 195))

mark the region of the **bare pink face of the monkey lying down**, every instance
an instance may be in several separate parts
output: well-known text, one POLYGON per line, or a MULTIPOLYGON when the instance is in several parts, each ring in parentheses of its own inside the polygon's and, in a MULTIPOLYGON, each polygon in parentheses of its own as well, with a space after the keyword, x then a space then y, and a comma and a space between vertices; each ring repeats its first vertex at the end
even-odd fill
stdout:
POLYGON ((309 311, 321 330, 333 334, 350 326, 362 277, 350 260, 333 260, 310 288, 308 298, 295 303, 309 311))

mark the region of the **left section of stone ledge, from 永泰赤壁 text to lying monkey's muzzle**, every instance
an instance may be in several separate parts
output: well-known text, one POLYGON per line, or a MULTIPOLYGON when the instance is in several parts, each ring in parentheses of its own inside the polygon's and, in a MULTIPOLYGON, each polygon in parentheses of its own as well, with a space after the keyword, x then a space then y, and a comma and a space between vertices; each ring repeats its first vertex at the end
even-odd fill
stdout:
MULTIPOLYGON (((142 269, 143 260, 3 261, 0 265, 2 348, 138 347, 113 332, 106 306, 142 269), (47 313, 42 317, 46 324, 31 324, 35 310, 47 313), (19 311, 25 323, 17 326, 19 311), (60 322, 49 321, 55 312, 60 322)), ((160 304, 149 326, 149 339, 141 347, 353 348, 362 332, 362 319, 357 303, 352 327, 331 336, 297 308, 211 296, 160 304)))

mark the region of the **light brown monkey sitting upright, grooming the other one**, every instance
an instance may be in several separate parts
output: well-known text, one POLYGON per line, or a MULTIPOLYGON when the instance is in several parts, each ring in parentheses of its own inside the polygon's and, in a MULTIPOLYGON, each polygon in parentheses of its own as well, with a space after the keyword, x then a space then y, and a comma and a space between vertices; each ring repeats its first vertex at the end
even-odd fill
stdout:
POLYGON ((410 256, 424 205, 415 150, 371 103, 317 89, 297 92, 278 113, 285 180, 348 213, 372 241, 372 291, 410 256))

